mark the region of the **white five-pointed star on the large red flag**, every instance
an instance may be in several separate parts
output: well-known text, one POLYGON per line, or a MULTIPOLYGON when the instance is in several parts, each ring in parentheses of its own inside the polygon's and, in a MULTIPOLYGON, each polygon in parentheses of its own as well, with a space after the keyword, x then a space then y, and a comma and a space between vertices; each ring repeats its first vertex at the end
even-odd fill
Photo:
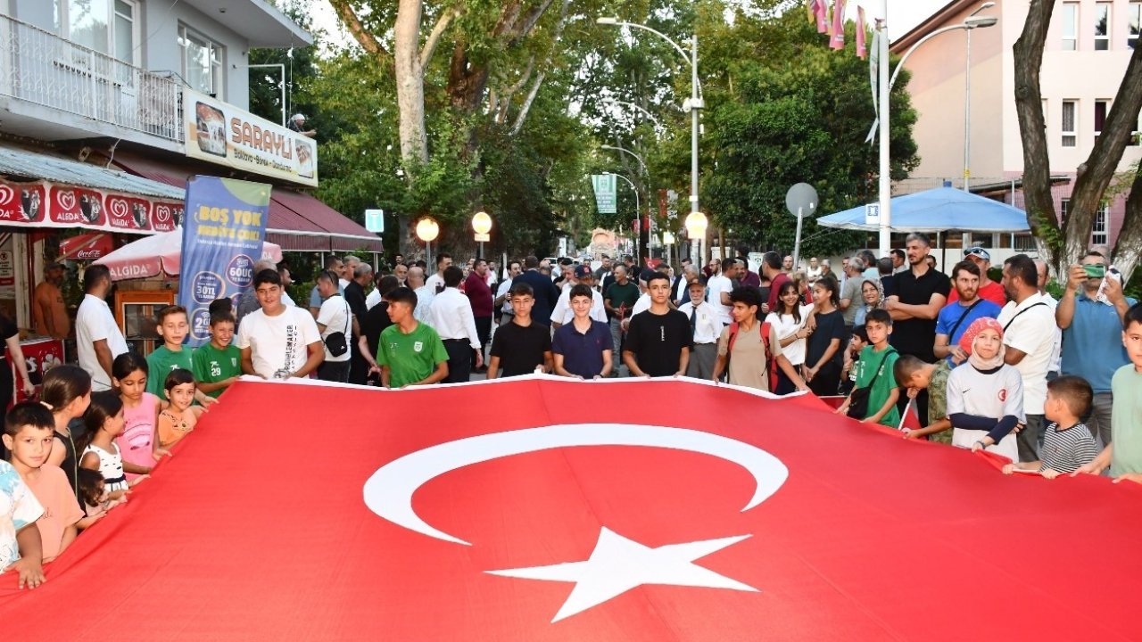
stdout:
POLYGON ((571 595, 552 620, 556 623, 644 584, 757 592, 751 586, 693 563, 694 560, 748 537, 741 535, 651 548, 603 527, 587 561, 486 572, 504 577, 576 583, 571 595))

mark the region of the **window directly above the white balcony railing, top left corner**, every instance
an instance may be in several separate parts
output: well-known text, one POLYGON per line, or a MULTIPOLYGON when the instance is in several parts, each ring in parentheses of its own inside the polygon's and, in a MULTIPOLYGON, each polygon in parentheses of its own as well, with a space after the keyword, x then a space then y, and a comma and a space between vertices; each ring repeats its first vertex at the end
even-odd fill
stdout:
POLYGON ((135 64, 135 0, 55 0, 56 32, 72 42, 135 64))

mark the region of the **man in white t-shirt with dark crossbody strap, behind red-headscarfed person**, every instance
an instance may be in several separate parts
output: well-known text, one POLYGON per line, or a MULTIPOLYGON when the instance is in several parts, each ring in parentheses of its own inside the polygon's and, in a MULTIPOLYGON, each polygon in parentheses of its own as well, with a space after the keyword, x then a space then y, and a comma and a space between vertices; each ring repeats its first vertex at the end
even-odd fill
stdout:
POLYGON ((1039 274, 1035 262, 1019 254, 1004 262, 1003 287, 1007 305, 999 312, 1007 346, 1004 361, 1023 377, 1023 412, 1027 425, 1015 435, 1020 462, 1039 459, 1038 439, 1044 428, 1044 403, 1047 399, 1047 368, 1059 337, 1055 311, 1039 294, 1039 274))

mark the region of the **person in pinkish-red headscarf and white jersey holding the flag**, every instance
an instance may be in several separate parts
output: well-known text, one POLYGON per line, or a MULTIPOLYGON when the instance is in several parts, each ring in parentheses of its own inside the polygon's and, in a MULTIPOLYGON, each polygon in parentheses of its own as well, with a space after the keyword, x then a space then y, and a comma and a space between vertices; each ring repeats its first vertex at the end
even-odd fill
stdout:
POLYGON ((1019 460, 1015 426, 1023 422, 1023 378, 1004 363, 1003 327, 995 319, 976 319, 959 339, 967 363, 948 376, 948 417, 951 444, 986 448, 1019 460))

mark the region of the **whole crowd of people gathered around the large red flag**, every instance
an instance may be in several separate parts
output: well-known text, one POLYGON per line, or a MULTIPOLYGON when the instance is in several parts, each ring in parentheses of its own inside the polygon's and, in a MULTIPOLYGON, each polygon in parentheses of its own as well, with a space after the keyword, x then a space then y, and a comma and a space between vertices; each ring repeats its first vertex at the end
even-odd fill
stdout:
POLYGON ((1008 474, 1109 470, 1142 483, 1142 305, 1120 275, 1092 251, 1055 300, 1042 262, 1013 256, 995 281, 986 248, 963 254, 947 275, 924 234, 887 257, 844 258, 837 273, 772 251, 757 272, 726 257, 684 259, 677 273, 606 256, 595 270, 528 256, 500 272, 442 252, 431 271, 397 255, 381 274, 330 257, 304 307, 286 290, 288 270, 260 262, 247 295, 211 304, 209 343, 184 346, 187 313, 169 306, 146 359, 107 307, 110 273, 91 266, 79 366, 49 370, 40 400, 5 419, 0 569, 40 584, 42 563, 128 501, 242 375, 389 388, 474 372, 689 376, 807 391, 904 439, 1002 455, 1008 474), (910 404, 919 428, 903 428, 910 404))

